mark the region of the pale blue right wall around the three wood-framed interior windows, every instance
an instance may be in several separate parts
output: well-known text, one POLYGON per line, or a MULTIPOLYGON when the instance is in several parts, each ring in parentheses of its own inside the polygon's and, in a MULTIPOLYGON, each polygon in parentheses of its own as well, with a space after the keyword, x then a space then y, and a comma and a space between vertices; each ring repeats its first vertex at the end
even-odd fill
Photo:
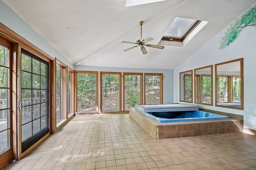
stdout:
POLYGON ((200 48, 186 61, 174 69, 174 102, 179 102, 180 100, 180 72, 213 65, 213 83, 215 83, 214 64, 243 58, 244 110, 216 107, 215 84, 213 84, 213 106, 200 105, 200 107, 243 115, 244 127, 256 130, 256 27, 246 27, 242 30, 239 37, 233 43, 231 43, 225 49, 220 50, 218 48, 220 47, 221 37, 224 36, 224 33, 228 28, 229 26, 218 33, 218 35, 213 37, 202 48, 200 48))

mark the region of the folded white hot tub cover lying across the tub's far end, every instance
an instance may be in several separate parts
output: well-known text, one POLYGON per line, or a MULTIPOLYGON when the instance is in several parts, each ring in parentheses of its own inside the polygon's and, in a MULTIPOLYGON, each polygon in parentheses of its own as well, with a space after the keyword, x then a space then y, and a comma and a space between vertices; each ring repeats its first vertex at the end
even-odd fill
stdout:
POLYGON ((196 104, 144 104, 135 105, 135 109, 143 112, 156 111, 196 111, 199 106, 196 104))

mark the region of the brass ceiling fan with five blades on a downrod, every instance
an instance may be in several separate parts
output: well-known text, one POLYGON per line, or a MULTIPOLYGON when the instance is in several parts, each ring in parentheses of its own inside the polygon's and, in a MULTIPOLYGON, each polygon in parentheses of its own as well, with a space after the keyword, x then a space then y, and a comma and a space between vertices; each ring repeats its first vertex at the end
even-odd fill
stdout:
POLYGON ((144 45, 146 45, 147 47, 154 47, 154 48, 158 48, 158 49, 163 49, 164 46, 161 46, 161 45, 152 45, 152 44, 146 44, 147 42, 153 40, 153 38, 146 38, 146 39, 142 39, 142 24, 143 24, 143 21, 140 21, 139 22, 139 25, 140 25, 140 39, 138 39, 136 41, 136 43, 133 43, 133 42, 128 42, 128 41, 122 41, 121 43, 129 43, 129 44, 136 44, 135 46, 133 47, 130 47, 128 49, 125 49, 124 51, 128 51, 128 50, 131 50, 131 49, 134 49, 135 47, 138 47, 140 46, 140 49, 142 51, 143 54, 146 54, 148 53, 144 47, 144 45))

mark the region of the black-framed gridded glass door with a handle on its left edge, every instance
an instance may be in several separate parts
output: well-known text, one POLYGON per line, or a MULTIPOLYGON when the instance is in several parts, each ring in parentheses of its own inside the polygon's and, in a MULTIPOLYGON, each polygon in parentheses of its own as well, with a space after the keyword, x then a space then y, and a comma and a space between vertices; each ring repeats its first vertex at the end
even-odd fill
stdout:
POLYGON ((23 153, 49 133, 49 63, 21 49, 20 126, 23 153))

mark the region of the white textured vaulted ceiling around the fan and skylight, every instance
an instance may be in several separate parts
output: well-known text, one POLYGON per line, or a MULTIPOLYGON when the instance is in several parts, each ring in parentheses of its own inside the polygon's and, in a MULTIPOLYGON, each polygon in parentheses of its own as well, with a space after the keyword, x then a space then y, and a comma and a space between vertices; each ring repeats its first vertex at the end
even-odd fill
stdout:
MULTIPOLYGON (((166 0, 125 7, 125 0, 3 0, 71 63, 174 69, 256 3, 256 0, 166 0), (158 44, 175 17, 208 21, 184 47, 121 43, 152 37, 158 44)), ((54 57, 54 56, 53 56, 54 57)))

